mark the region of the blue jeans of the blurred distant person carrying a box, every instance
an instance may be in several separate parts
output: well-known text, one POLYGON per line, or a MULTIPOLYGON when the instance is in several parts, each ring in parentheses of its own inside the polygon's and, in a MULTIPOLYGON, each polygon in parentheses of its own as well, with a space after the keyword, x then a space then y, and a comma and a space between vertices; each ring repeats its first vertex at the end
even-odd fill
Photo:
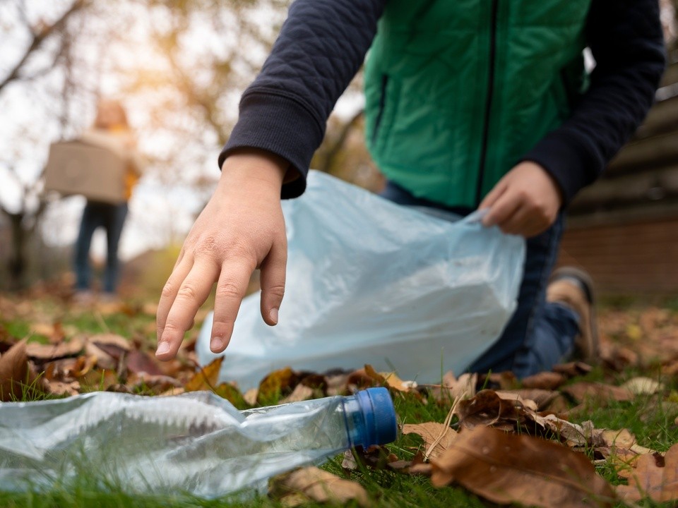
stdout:
POLYGON ((106 229, 106 268, 104 270, 103 289, 107 293, 114 293, 118 283, 119 260, 118 244, 122 234, 122 226, 127 217, 127 203, 111 205, 109 203, 88 201, 83 210, 83 219, 80 223, 80 233, 76 241, 76 289, 85 291, 90 289, 92 267, 90 267, 90 245, 92 236, 97 227, 106 229))

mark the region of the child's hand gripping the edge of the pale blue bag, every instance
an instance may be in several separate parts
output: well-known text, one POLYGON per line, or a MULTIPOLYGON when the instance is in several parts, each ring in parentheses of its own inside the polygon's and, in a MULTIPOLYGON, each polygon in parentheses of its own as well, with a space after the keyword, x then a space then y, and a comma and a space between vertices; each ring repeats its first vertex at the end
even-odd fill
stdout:
POLYGON ((554 223, 563 198, 551 175, 535 162, 521 162, 496 183, 480 203, 484 226, 529 238, 554 223))

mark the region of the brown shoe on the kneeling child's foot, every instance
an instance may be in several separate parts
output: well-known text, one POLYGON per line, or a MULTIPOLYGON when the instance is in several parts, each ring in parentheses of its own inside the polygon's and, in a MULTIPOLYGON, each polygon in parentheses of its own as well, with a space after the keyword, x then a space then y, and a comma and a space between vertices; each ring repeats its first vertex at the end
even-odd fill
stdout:
POLYGON ((600 357, 600 348, 590 275, 573 267, 554 270, 546 289, 546 301, 561 303, 578 314, 579 334, 574 340, 574 357, 595 363, 600 357))

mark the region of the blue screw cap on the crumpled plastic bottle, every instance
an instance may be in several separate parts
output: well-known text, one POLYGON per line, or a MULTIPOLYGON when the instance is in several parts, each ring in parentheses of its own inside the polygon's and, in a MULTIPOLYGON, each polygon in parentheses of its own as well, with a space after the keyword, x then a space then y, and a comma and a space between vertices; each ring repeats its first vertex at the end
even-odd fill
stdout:
POLYGON ((368 388, 356 392, 355 398, 365 421, 363 447, 395 441, 398 437, 398 423, 396 422, 396 409, 393 408, 388 389, 368 388))

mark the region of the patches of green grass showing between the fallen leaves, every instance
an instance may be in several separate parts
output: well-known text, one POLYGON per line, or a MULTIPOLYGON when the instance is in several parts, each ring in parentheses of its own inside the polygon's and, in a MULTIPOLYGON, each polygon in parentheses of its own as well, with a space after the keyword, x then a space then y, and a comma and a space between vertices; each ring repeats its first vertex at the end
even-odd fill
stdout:
MULTIPOLYGON (((678 300, 677 300, 678 302, 678 300)), ((614 308, 629 305, 628 301, 609 303, 614 308)), ((152 343, 154 333, 150 331, 153 316, 143 313, 119 313, 113 315, 97 315, 88 312, 72 312, 49 302, 37 302, 37 312, 42 316, 52 317, 52 322, 59 321, 64 327, 72 327, 88 334, 112 332, 124 337, 141 337, 152 343)), ((678 304, 677 304, 678 308, 678 304)), ((42 320, 42 322, 45 322, 42 320)), ((49 322, 49 321, 47 321, 49 322)), ((0 319, 0 326, 13 337, 27 337, 30 333, 31 319, 16 317, 0 319)), ((47 337, 33 335, 31 340, 44 341, 47 337)), ((571 413, 574 423, 593 421, 595 428, 622 429, 628 428, 636 435, 638 444, 665 452, 672 444, 678 442, 678 382, 672 378, 662 378, 655 368, 650 370, 626 370, 623 373, 610 373, 602 368, 595 368, 591 373, 578 377, 571 382, 597 381, 620 385, 622 382, 644 375, 659 380, 664 385, 662 392, 653 397, 637 397, 629 402, 585 401, 577 411, 571 413), (604 402, 604 404, 602 404, 604 402)), ((27 390, 25 400, 30 400, 27 390)), ((275 400, 266 401, 274 404, 275 400)), ((450 407, 449 404, 438 404, 432 397, 423 403, 420 399, 408 396, 394 398, 396 413, 400 423, 423 423, 427 421, 444 421, 450 407)), ((572 404, 574 406, 574 404, 572 404)), ((396 442, 388 445, 388 449, 399 459, 411 459, 422 447, 420 438, 415 435, 400 436, 396 442)), ((390 470, 374 470, 359 468, 347 472, 341 467, 343 456, 330 459, 323 468, 345 478, 359 481, 369 493, 371 502, 383 507, 487 507, 488 503, 472 495, 463 488, 432 487, 429 478, 407 476, 390 470)), ((613 485, 621 483, 611 466, 598 466, 597 471, 613 485)), ((672 503, 656 504, 640 502, 639 507, 669 507, 672 503)), ((121 488, 102 489, 95 481, 95 475, 78 480, 69 488, 53 488, 49 492, 0 492, 0 507, 8 508, 89 508, 89 507, 280 507, 282 503, 271 500, 265 495, 222 500, 202 500, 190 496, 139 496, 124 492, 121 488)), ((314 507, 318 504, 309 503, 314 507)), ((349 504, 351 506, 351 504, 349 504)), ((357 504, 355 504, 357 506, 357 504)), ((623 506, 619 504, 618 506, 623 506)))

